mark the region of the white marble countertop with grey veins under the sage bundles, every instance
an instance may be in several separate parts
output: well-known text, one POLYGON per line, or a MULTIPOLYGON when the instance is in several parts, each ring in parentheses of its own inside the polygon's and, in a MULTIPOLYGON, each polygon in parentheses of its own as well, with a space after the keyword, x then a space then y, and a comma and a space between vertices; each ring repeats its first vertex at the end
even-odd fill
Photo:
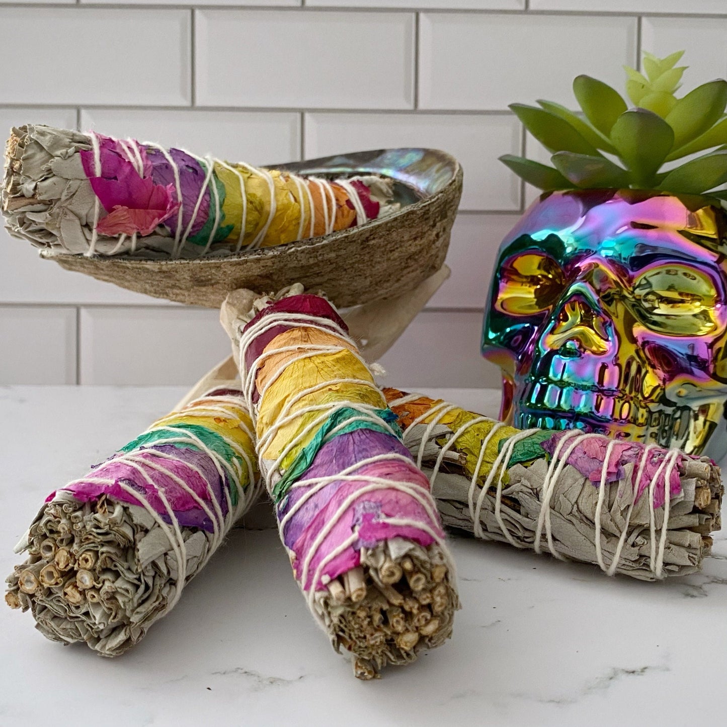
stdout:
MULTIPOLYGON (((172 387, 0 388, 0 570, 49 491, 182 395, 172 387), (113 419, 105 412, 112 411, 113 419)), ((494 391, 435 390, 497 414, 494 391)), ((683 726, 727 715, 727 542, 663 583, 454 539, 454 637, 362 683, 305 608, 275 531, 233 531, 172 614, 102 659, 0 607, 0 724, 683 726)))

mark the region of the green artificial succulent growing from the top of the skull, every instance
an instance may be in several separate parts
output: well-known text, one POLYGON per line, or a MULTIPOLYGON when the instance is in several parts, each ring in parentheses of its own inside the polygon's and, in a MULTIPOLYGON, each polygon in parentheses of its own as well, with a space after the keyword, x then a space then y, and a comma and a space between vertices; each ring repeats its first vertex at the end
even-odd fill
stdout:
POLYGON ((526 182, 542 190, 635 188, 704 194, 727 182, 727 81, 702 84, 681 98, 683 51, 643 55, 643 71, 626 67, 627 96, 590 76, 577 76, 574 113, 552 101, 510 105, 526 129, 550 153, 553 166, 520 156, 500 157, 526 182), (709 149, 678 166, 662 166, 709 149))

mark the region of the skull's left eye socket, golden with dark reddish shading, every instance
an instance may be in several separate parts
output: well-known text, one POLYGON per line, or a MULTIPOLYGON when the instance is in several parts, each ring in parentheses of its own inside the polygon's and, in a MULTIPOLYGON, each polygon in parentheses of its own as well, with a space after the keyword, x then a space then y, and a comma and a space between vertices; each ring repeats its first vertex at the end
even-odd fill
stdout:
POLYGON ((558 300, 564 286, 563 270, 553 257, 523 252, 502 263, 495 308, 515 316, 542 313, 558 300))

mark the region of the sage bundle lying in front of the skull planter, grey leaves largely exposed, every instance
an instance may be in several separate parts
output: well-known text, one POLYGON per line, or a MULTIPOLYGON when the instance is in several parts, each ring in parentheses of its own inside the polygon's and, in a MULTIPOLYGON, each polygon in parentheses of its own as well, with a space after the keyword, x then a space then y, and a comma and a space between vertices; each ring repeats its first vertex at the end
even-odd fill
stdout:
POLYGON ((447 526, 643 580, 693 573, 710 554, 723 485, 707 457, 385 395, 447 526))

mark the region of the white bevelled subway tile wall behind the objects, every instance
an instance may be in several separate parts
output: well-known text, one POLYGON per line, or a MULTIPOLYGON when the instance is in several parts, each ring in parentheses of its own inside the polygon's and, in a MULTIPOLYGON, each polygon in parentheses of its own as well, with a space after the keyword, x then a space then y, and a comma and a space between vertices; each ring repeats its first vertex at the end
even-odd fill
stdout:
MULTIPOLYGON (((465 169, 451 278, 383 358, 390 385, 499 386, 481 311, 499 241, 535 193, 497 157, 547 161, 509 103, 572 108, 577 73, 622 88, 640 49, 686 49, 688 86, 727 74, 727 0, 191 5, 0 0, 1 131, 97 129, 252 164, 449 150, 465 169)), ((191 385, 229 349, 216 311, 68 273, 4 230, 0 343, 0 385, 191 385)))

